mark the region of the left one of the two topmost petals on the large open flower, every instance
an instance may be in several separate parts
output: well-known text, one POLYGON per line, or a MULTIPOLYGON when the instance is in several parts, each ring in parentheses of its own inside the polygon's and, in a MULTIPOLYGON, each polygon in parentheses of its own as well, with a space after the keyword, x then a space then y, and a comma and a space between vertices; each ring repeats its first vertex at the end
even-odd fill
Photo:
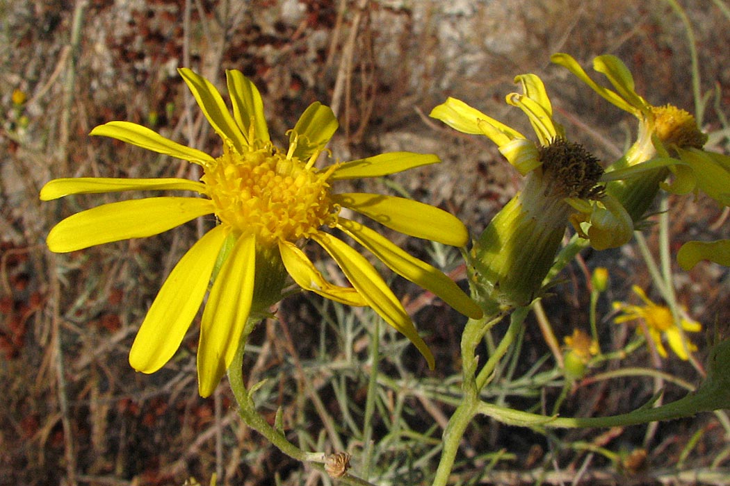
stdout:
POLYGON ((177 72, 180 73, 185 84, 190 88, 191 93, 198 102, 198 106, 200 106, 215 133, 218 133, 224 141, 230 141, 239 154, 242 153, 243 147, 248 146, 246 138, 231 114, 228 113, 228 107, 215 86, 191 69, 178 68, 177 72))

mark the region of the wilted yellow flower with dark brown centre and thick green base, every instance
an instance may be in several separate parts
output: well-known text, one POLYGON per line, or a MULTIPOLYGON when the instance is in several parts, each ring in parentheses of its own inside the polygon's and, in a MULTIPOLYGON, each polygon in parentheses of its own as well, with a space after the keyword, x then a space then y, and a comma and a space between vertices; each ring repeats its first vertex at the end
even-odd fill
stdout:
POLYGON ((490 138, 525 176, 523 190, 494 217, 472 252, 480 280, 488 283, 486 293, 507 306, 537 297, 568 223, 597 249, 621 246, 633 231, 629 215, 599 184, 601 165, 566 141, 553 120, 542 80, 523 74, 515 82, 523 93, 510 93, 507 103, 527 115, 537 143, 455 98, 431 111, 456 130, 490 138))

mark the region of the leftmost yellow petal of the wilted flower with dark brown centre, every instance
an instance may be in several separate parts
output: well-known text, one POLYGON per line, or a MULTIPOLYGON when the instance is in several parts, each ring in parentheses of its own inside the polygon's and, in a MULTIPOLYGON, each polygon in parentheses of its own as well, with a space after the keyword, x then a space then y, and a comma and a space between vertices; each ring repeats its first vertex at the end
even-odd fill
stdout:
POLYGON ((456 98, 447 98, 445 103, 440 104, 429 114, 431 118, 440 119, 446 125, 454 128, 463 133, 473 133, 475 135, 487 135, 491 140, 502 146, 507 144, 510 140, 515 138, 525 138, 517 130, 498 122, 492 117, 488 117, 481 111, 472 108, 471 106, 464 103, 464 101, 457 100, 456 98), (482 123, 480 123, 482 122, 482 123), (490 133, 485 133, 482 126, 484 122, 488 123, 493 130, 490 133))

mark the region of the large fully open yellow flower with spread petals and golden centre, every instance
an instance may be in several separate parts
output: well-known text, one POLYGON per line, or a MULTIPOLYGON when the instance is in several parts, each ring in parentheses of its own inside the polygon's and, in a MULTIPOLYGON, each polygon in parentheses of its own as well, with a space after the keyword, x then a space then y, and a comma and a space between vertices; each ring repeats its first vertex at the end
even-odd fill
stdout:
POLYGON ((401 197, 331 190, 334 181, 385 176, 439 162, 438 157, 393 152, 315 168, 315 160, 338 127, 327 106, 312 103, 304 111, 291 130, 288 150, 283 151, 272 144, 261 95, 243 74, 226 72, 231 116, 207 79, 188 68, 179 72, 223 140, 220 156, 177 144, 131 122, 108 122, 94 128, 91 135, 116 138, 198 164, 204 172, 201 181, 55 179, 40 193, 42 200, 143 189, 184 190, 204 196, 126 200, 74 214, 50 231, 47 245, 55 252, 156 235, 208 214, 218 220, 180 259, 160 289, 132 345, 131 366, 152 373, 172 358, 213 278, 197 356, 199 392, 209 396, 245 338, 242 334, 249 316, 261 315, 278 302, 286 276, 291 275, 302 289, 347 305, 372 307, 408 337, 433 368, 429 348, 377 270, 350 244, 325 230, 341 230, 394 272, 433 291, 461 313, 479 318, 480 307, 446 275, 374 230, 345 219, 340 210, 350 208, 407 235, 464 246, 469 235, 456 217, 401 197), (301 250, 307 240, 331 255, 353 287, 326 281, 301 250))

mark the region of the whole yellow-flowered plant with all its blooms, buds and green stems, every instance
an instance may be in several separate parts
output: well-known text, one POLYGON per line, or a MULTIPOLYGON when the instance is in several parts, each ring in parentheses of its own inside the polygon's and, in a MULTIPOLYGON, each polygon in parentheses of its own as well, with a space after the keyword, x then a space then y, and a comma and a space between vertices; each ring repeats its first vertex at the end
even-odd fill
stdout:
MULTIPOLYGON (((153 373, 164 367, 180 347, 207 295, 197 351, 199 393, 210 396, 226 372, 242 419, 283 452, 318 464, 331 477, 347 484, 369 484, 350 474, 350 455, 326 456, 307 452, 288 441, 279 428, 258 413, 244 386, 242 356, 255 325, 271 315, 291 286, 315 292, 344 305, 371 307, 420 351, 431 369, 434 356, 399 299, 377 270, 350 244, 334 235, 339 230, 372 256, 407 280, 427 289, 469 318, 461 337, 461 401, 442 438, 442 456, 434 486, 446 485, 458 447, 469 423, 488 415, 511 425, 536 430, 558 427, 604 427, 677 418, 730 404, 730 342, 715 345, 707 377, 694 392, 660 407, 642 407, 624 415, 564 418, 498 406, 482 391, 517 340, 531 306, 553 285, 566 264, 565 254, 580 248, 616 248, 644 227, 646 212, 661 191, 689 194, 702 191, 721 205, 730 204, 730 157, 703 149, 707 136, 694 118, 675 106, 652 106, 634 90, 634 81, 621 60, 599 56, 593 67, 612 87, 599 85, 575 59, 553 55, 566 68, 620 109, 639 120, 637 140, 619 160, 604 164, 584 146, 571 141, 553 116, 542 80, 534 74, 515 78, 520 93, 507 103, 529 119, 534 140, 456 98, 431 111, 431 117, 463 133, 485 136, 523 176, 523 187, 469 248, 469 230, 455 216, 404 197, 336 192, 337 181, 381 177, 439 162, 433 154, 394 152, 318 167, 320 154, 337 130, 331 109, 313 103, 288 133, 288 148, 269 137, 264 108, 253 82, 239 71, 227 71, 228 97, 207 79, 187 68, 180 76, 222 145, 215 155, 183 146, 131 122, 112 121, 91 131, 128 144, 199 165, 199 181, 188 179, 55 179, 40 192, 42 200, 77 194, 133 190, 185 191, 187 196, 158 196, 125 200, 73 214, 47 237, 51 251, 77 251, 128 238, 150 237, 191 221, 214 216, 215 224, 177 262, 139 327, 129 353, 131 367, 153 373), (444 273, 410 256, 379 232, 346 217, 347 208, 405 235, 464 248, 471 297, 444 273), (566 230, 573 238, 564 246, 566 230), (323 248, 351 286, 337 286, 320 273, 305 253, 307 243, 323 248), (504 318, 510 326, 491 356, 477 347, 485 334, 504 318), (322 466, 324 464, 324 466, 322 466)), ((209 218, 209 220, 211 220, 209 218)), ((690 242, 680 250, 680 264, 692 267, 700 259, 721 264, 730 260, 726 241, 690 242)), ((608 273, 602 272, 604 289, 608 273)), ((666 337, 677 356, 687 359, 696 346, 683 330, 700 324, 680 318, 669 307, 656 305, 642 289, 635 292, 645 306, 616 304, 623 315, 617 322, 644 320, 649 338, 660 350, 666 337)), ((595 334, 595 332, 594 332, 595 334)), ((580 330, 566 338, 572 375, 580 377, 599 354, 596 335, 580 330), (579 371, 575 372, 575 369, 579 371)), ((567 366, 567 365, 566 365, 567 366)))

